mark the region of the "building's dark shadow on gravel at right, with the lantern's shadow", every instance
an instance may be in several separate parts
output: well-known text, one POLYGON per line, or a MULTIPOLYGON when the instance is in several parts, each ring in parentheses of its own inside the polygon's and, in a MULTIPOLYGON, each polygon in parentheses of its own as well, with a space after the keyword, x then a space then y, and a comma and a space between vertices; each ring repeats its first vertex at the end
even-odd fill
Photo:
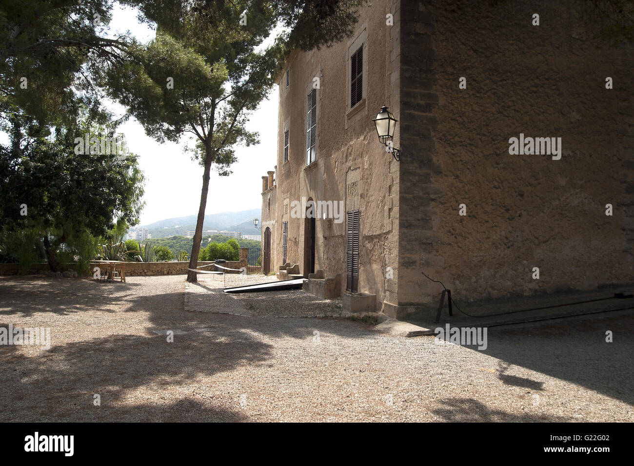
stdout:
MULTIPOLYGON (((499 379, 505 384, 543 389, 542 381, 505 373, 521 366, 566 380, 611 398, 634 404, 634 316, 608 315, 569 318, 524 327, 494 327, 482 353, 504 361, 499 379), (614 341, 605 341, 614 330, 614 341)), ((465 346, 477 350, 476 346, 465 346)))

